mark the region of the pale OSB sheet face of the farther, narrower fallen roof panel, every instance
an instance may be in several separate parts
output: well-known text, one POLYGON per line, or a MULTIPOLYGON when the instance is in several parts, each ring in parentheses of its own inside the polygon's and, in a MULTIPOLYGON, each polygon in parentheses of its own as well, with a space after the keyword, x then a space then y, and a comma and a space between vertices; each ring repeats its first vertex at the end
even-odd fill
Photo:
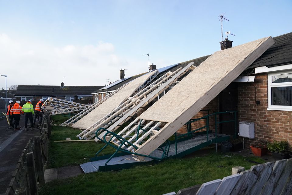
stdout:
POLYGON ((154 73, 155 71, 144 74, 132 80, 129 84, 127 84, 127 86, 123 87, 123 89, 104 101, 101 105, 89 112, 82 119, 74 123, 72 127, 87 129, 88 127, 92 126, 98 120, 109 114, 114 108, 120 105, 120 103, 122 103, 126 98, 134 93, 135 90, 137 90, 137 88, 140 87, 145 82, 145 80, 147 80, 154 73))

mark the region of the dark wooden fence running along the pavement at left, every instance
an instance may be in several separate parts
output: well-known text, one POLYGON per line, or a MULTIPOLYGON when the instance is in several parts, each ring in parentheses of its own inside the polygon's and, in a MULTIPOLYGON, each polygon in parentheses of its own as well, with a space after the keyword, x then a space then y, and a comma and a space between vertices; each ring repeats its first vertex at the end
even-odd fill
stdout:
POLYGON ((37 182, 45 184, 44 171, 48 166, 48 142, 51 133, 50 116, 40 128, 40 136, 30 138, 24 148, 5 195, 38 194, 37 182))

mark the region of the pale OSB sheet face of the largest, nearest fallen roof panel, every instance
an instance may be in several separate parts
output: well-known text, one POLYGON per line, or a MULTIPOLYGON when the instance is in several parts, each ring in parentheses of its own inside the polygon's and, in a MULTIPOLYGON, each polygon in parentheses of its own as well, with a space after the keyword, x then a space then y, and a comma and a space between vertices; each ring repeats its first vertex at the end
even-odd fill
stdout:
POLYGON ((190 111, 195 115, 252 63, 243 62, 264 40, 266 38, 215 52, 139 118, 172 122, 200 100, 200 107, 190 111), (239 69, 234 70, 237 66, 239 69), (220 81, 222 85, 218 86, 220 81), (207 96, 210 97, 208 100, 207 96))

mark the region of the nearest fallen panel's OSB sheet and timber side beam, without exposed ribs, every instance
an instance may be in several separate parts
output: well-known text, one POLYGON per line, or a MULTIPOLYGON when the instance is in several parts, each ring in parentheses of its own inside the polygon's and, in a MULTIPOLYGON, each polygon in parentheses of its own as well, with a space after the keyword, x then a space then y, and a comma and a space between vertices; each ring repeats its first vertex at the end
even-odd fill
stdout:
POLYGON ((266 37, 217 51, 211 55, 139 116, 140 119, 168 123, 155 136, 142 144, 136 152, 149 155, 216 97, 273 43, 272 37, 266 37))

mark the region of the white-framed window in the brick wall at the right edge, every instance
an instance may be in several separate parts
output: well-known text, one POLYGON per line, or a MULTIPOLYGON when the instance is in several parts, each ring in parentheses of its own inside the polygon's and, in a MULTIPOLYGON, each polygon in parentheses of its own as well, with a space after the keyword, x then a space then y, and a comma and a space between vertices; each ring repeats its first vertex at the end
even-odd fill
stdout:
POLYGON ((268 73, 267 109, 292 111, 292 71, 268 73))

